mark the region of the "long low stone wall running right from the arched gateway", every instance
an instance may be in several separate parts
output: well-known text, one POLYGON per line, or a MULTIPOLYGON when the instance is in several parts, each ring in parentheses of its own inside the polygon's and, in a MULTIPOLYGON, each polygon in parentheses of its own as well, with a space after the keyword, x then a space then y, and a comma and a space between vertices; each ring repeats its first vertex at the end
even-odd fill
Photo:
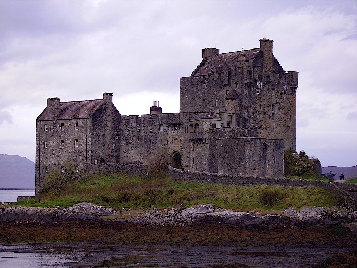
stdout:
POLYGON ((289 179, 289 178, 260 178, 260 177, 241 177, 238 175, 205 173, 205 172, 190 172, 186 170, 168 168, 168 175, 177 180, 188 182, 204 182, 204 183, 220 183, 225 185, 282 185, 282 186, 316 186, 332 192, 336 198, 342 198, 345 207, 357 209, 357 204, 351 198, 349 192, 357 192, 355 184, 340 184, 324 182, 322 180, 304 180, 304 179, 289 179))

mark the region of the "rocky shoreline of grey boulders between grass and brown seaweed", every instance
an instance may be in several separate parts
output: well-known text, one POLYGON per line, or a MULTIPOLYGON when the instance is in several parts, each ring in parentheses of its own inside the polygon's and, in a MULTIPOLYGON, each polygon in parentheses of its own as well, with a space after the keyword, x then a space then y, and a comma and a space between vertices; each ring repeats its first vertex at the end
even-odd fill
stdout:
POLYGON ((226 223, 244 227, 248 230, 269 230, 276 226, 286 228, 304 228, 312 225, 345 225, 357 230, 357 211, 336 207, 303 207, 300 210, 285 209, 279 214, 261 214, 255 211, 235 212, 216 209, 211 204, 201 204, 180 210, 121 210, 98 206, 91 203, 79 203, 69 208, 40 207, 1 207, 2 222, 39 222, 56 223, 64 220, 104 220, 107 222, 129 222, 145 226, 177 225, 187 226, 193 223, 226 223))

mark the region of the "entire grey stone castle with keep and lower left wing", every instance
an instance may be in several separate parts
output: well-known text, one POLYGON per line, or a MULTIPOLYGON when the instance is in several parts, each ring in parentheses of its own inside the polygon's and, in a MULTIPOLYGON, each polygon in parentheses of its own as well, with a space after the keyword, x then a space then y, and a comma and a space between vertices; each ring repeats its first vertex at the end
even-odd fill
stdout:
POLYGON ((202 50, 202 61, 180 78, 180 112, 124 116, 103 99, 60 102, 47 98, 36 120, 36 192, 49 170, 66 163, 143 163, 159 149, 171 166, 207 173, 283 177, 284 150, 296 151, 298 72, 285 72, 273 41, 219 53, 202 50))

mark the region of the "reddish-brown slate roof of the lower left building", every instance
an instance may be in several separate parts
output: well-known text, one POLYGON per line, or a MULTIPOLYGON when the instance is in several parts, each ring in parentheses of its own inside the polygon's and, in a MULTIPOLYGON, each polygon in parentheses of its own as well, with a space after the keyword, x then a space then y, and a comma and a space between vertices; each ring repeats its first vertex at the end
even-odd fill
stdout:
MULTIPOLYGON (((60 114, 56 119, 61 120, 91 118, 93 113, 103 103, 103 99, 62 103, 60 102, 60 114)), ((40 116, 37 117, 37 121, 53 120, 53 114, 53 109, 46 107, 40 116)))

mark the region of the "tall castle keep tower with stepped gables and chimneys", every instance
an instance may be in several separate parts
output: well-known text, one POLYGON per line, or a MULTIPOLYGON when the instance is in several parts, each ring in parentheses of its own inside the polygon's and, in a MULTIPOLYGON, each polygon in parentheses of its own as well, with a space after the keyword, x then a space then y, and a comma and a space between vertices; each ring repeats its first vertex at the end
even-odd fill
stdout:
POLYGON ((218 102, 223 127, 240 137, 282 139, 295 151, 298 72, 284 71, 272 40, 259 41, 251 50, 204 49, 191 76, 180 78, 180 112, 213 113, 218 102))

